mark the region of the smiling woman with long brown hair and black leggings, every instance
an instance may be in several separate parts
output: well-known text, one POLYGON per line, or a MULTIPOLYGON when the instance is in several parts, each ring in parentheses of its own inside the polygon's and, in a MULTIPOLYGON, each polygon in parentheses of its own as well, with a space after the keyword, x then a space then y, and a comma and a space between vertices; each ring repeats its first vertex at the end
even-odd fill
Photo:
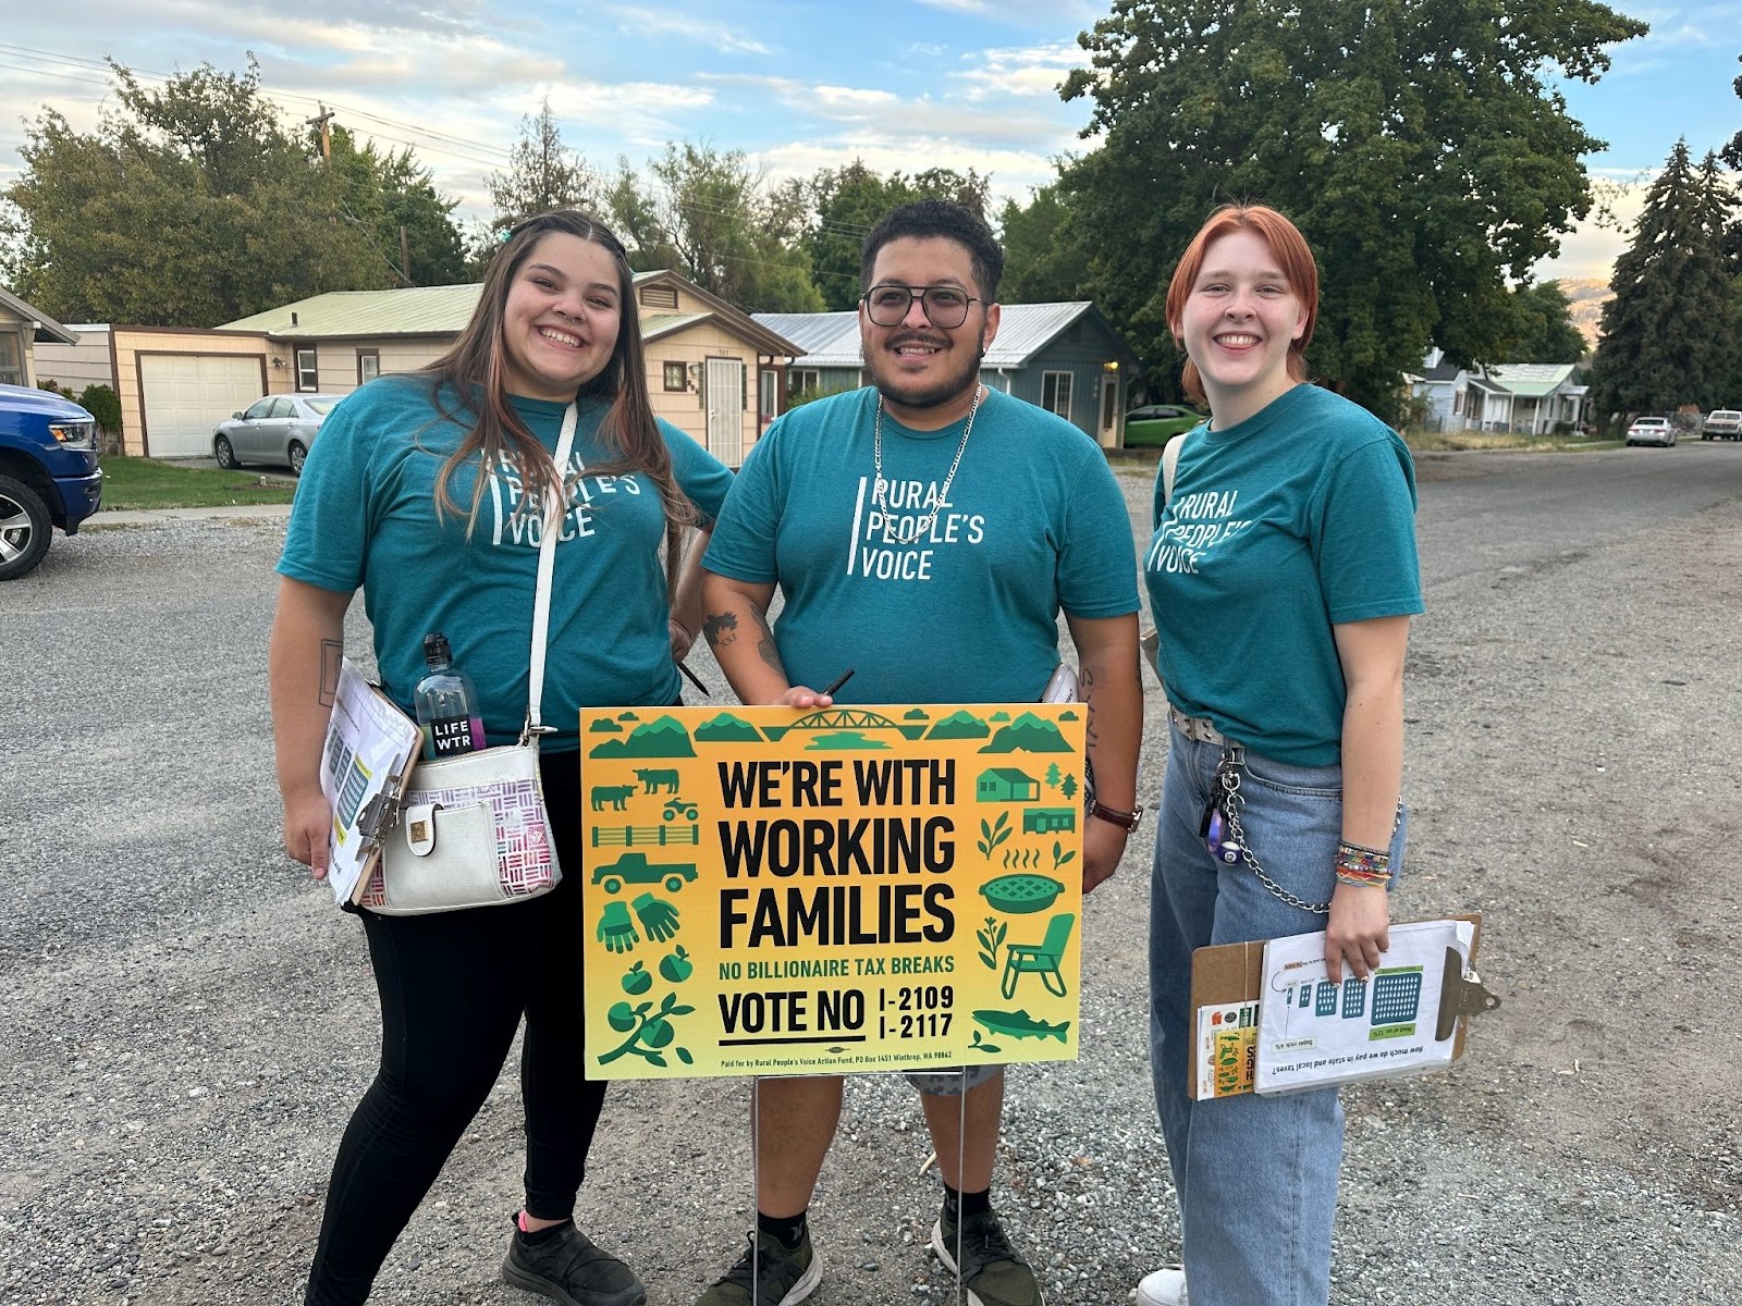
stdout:
POLYGON ((578 709, 678 700, 672 658, 700 627, 695 576, 678 580, 681 538, 712 521, 730 479, 653 418, 629 261, 573 211, 512 228, 455 347, 347 397, 310 449, 272 630, 291 857, 326 872, 319 763, 354 592, 364 592, 381 686, 402 709, 423 676, 423 636, 441 630, 477 686, 488 742, 509 744, 526 712, 538 542, 554 529, 542 714, 556 733, 540 770, 570 878, 514 905, 362 912, 381 1064, 333 1165, 308 1306, 369 1296, 523 1015, 526 1196, 503 1276, 566 1306, 645 1301, 634 1273, 573 1224, 604 1101, 604 1083, 582 1071, 578 709), (575 446, 557 467, 571 404, 575 446), (561 517, 545 512, 552 488, 561 517))

